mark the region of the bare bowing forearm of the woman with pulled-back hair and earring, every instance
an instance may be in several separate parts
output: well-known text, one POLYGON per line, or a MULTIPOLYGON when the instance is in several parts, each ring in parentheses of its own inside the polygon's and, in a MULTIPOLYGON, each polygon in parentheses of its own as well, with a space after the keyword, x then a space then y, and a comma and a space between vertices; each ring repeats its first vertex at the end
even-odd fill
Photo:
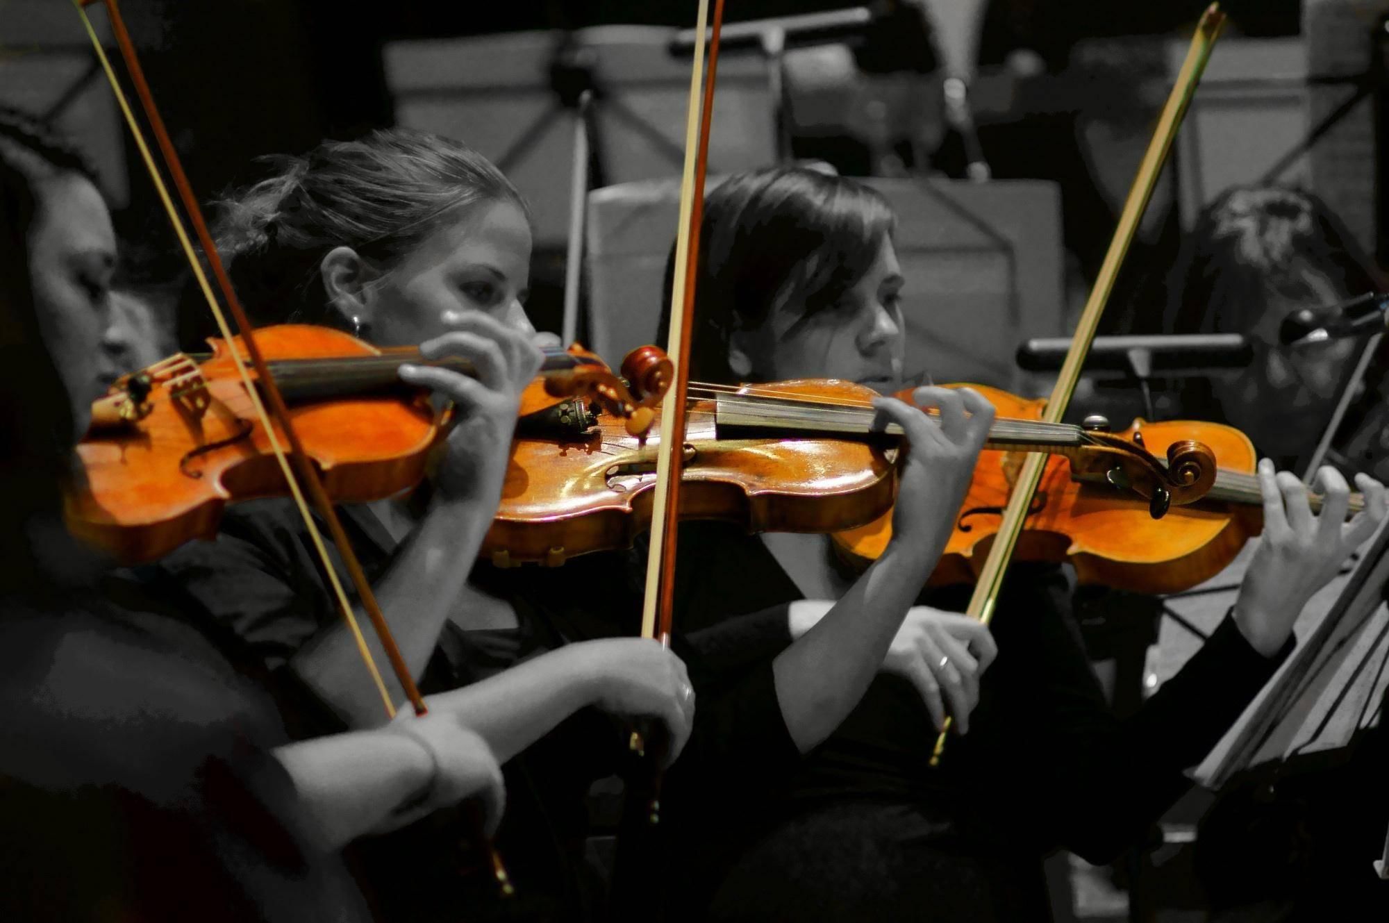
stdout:
POLYGON ((597 678, 582 667, 579 646, 551 651, 481 683, 425 698, 432 714, 453 714, 507 762, 560 721, 594 701, 597 678))

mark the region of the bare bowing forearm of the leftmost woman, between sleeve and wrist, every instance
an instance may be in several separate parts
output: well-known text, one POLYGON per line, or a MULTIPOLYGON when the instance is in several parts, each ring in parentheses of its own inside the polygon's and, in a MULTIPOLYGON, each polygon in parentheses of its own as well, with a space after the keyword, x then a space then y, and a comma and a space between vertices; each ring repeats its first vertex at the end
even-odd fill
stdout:
POLYGON ((325 851, 382 826, 425 791, 433 760, 415 740, 386 731, 333 734, 274 751, 325 851))

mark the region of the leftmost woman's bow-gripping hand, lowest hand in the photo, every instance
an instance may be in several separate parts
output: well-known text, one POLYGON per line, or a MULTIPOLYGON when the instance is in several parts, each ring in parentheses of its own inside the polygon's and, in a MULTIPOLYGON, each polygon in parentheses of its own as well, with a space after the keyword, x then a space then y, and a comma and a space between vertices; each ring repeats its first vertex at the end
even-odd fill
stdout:
POLYGON ((424 802, 407 803, 376 830, 394 830, 440 808, 472 799, 482 808, 482 824, 490 837, 501 823, 506 784, 492 748, 451 714, 415 717, 401 712, 385 733, 403 734, 428 751, 435 773, 424 802))

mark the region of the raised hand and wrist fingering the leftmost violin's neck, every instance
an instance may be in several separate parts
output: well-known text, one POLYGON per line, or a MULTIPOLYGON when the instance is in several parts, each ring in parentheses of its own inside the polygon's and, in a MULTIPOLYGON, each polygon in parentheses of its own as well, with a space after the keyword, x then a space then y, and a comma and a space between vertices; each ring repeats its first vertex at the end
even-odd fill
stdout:
POLYGON ((496 500, 507 473, 521 392, 540 370, 540 349, 531 332, 513 329, 488 314, 468 313, 453 321, 450 332, 421 343, 419 353, 425 359, 468 359, 478 371, 476 378, 469 378, 429 366, 400 368, 404 381, 432 388, 454 405, 454 425, 435 475, 440 499, 496 500))

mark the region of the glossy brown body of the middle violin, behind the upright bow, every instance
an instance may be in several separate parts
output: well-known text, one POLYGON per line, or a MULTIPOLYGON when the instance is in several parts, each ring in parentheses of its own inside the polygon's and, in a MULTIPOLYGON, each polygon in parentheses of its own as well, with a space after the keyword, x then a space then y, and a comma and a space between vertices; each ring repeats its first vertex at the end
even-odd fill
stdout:
MULTIPOLYGON (((761 395, 865 402, 846 381, 757 385, 761 395)), ((715 402, 689 407, 681 518, 720 518, 750 532, 832 532, 882 514, 896 495, 892 441, 845 438, 715 439, 715 402)), ((657 439, 600 417, 583 436, 517 442, 501 506, 482 545, 499 566, 561 564, 629 548, 651 521, 657 439)))

